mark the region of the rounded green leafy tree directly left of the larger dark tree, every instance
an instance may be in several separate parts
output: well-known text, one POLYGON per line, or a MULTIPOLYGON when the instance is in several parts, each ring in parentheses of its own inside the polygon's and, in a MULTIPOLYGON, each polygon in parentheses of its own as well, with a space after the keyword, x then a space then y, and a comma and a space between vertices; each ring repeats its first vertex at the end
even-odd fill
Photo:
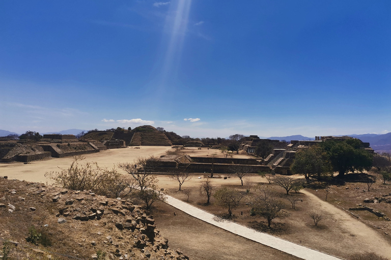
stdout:
POLYGON ((321 146, 311 146, 296 153, 291 165, 294 174, 304 174, 305 180, 310 181, 311 175, 317 175, 318 180, 323 173, 332 171, 328 154, 321 146))

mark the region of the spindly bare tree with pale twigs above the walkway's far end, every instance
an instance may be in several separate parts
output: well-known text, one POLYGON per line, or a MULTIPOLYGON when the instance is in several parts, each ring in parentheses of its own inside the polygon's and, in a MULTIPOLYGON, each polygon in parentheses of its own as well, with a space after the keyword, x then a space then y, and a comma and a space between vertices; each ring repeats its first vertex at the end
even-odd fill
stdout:
POLYGON ((119 164, 118 167, 130 174, 143 191, 147 187, 156 186, 157 179, 152 178, 151 173, 158 166, 159 161, 160 159, 155 156, 137 157, 133 164, 119 164))

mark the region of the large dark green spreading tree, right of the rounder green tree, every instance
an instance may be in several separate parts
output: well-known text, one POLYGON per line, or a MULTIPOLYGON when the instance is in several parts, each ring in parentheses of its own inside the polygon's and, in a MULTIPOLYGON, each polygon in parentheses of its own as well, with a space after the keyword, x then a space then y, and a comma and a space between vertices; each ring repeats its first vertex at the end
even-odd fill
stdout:
POLYGON ((345 173, 363 171, 372 166, 372 154, 362 148, 358 139, 327 140, 320 144, 327 152, 332 170, 338 172, 339 177, 345 173))

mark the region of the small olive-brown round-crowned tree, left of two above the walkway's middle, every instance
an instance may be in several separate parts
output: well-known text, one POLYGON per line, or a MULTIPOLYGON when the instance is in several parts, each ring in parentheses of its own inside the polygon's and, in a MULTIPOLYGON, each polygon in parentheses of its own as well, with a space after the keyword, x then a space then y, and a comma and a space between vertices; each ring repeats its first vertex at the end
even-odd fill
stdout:
POLYGON ((222 186, 214 193, 214 199, 216 204, 223 208, 228 208, 229 217, 232 216, 232 210, 240 205, 240 201, 245 194, 242 194, 239 190, 222 186))

